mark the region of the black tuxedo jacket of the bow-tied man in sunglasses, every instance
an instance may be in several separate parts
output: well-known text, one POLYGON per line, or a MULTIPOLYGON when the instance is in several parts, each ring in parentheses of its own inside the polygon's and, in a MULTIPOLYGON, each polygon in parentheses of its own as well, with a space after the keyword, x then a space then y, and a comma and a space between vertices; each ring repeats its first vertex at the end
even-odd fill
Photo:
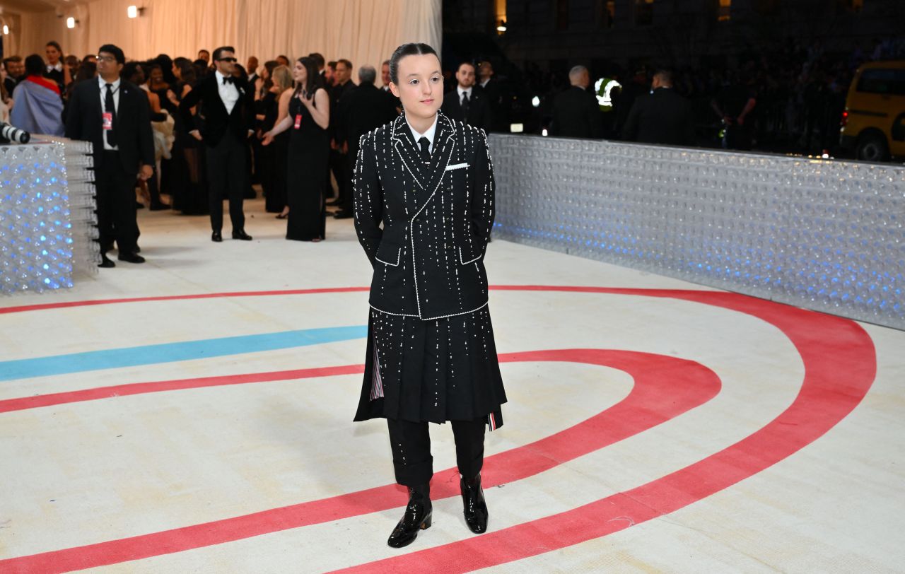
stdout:
POLYGON ((217 74, 211 72, 204 80, 198 82, 192 91, 179 102, 179 113, 188 131, 197 129, 208 146, 214 147, 223 139, 227 131, 232 131, 239 141, 248 139, 248 131, 254 129, 254 97, 248 86, 236 80, 239 100, 235 102, 233 111, 226 112, 224 101, 220 99, 217 89, 217 74), (199 106, 197 115, 192 115, 192 108, 199 106), (199 117, 200 116, 200 117, 199 117))

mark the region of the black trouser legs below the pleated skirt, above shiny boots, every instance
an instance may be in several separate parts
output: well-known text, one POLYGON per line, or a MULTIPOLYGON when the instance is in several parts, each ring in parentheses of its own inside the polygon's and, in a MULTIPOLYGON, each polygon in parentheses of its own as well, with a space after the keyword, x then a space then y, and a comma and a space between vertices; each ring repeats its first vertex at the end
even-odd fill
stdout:
MULTIPOLYGON (((465 478, 474 478, 484 464, 484 426, 487 424, 487 417, 451 423, 459 474, 465 478)), ((396 483, 412 487, 429 483, 433 476, 433 456, 427 423, 387 418, 386 425, 390 431, 396 483)))

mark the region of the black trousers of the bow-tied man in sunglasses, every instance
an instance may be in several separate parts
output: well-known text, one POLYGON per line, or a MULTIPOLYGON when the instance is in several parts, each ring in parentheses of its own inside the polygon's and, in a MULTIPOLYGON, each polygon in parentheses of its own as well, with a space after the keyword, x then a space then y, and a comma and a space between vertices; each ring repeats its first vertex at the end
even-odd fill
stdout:
POLYGON ((224 196, 229 199, 229 218, 233 231, 243 231, 245 214, 242 211, 248 187, 246 143, 231 131, 215 146, 207 147, 207 181, 211 204, 211 228, 219 232, 224 226, 224 196))

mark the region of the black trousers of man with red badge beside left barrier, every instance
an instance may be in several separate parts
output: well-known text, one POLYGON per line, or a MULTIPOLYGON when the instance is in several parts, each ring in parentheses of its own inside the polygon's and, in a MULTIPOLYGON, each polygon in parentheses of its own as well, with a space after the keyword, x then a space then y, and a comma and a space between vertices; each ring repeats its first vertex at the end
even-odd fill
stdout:
POLYGON ((114 239, 119 254, 135 251, 138 240, 138 221, 135 216, 136 173, 123 169, 119 151, 105 150, 103 162, 94 169, 101 253, 107 252, 114 239))

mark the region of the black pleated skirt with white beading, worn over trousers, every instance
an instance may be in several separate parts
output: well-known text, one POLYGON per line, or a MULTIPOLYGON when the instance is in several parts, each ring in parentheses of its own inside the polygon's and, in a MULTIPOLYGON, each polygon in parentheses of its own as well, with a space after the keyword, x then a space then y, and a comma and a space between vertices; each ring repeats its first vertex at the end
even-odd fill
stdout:
POLYGON ((438 320, 371 310, 355 420, 443 423, 486 417, 492 431, 503 424, 505 402, 486 306, 438 320))

